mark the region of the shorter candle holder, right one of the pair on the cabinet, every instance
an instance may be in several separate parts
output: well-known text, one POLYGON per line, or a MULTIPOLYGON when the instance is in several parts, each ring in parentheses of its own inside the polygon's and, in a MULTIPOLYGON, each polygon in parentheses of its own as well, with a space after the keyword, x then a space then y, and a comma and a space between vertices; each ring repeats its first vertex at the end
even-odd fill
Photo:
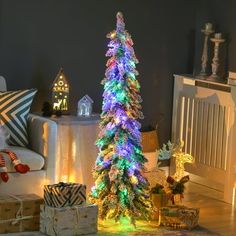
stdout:
POLYGON ((219 48, 220 44, 225 41, 225 39, 222 38, 221 33, 216 33, 214 38, 211 38, 211 41, 214 43, 214 57, 212 59, 212 74, 210 77, 207 78, 209 81, 214 82, 222 82, 222 79, 217 74, 219 70, 219 48))

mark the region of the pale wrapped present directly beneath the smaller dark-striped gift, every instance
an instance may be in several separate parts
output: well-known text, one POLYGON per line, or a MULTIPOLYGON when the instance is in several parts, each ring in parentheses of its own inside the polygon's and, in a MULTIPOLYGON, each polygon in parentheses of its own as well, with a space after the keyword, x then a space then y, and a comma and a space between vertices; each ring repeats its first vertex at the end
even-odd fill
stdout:
POLYGON ((97 232, 97 205, 54 208, 40 206, 40 231, 50 236, 73 236, 97 232))

